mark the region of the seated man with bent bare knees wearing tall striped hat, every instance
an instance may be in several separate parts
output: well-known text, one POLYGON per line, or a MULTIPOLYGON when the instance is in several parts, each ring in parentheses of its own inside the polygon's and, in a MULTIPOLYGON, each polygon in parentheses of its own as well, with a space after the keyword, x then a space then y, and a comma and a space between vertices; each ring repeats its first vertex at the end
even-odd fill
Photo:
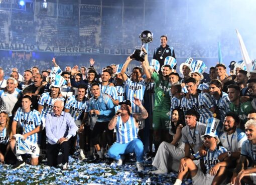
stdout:
POLYGON ((187 172, 192 177, 193 184, 195 185, 221 184, 225 181, 225 166, 228 165, 229 159, 227 158, 227 160, 220 162, 219 155, 227 152, 226 148, 217 146, 219 138, 212 133, 204 134, 201 138, 204 140, 204 145, 207 148, 206 155, 202 157, 206 167, 206 173, 198 169, 197 165, 193 162, 193 160, 201 158, 198 151, 194 155, 184 157, 180 160, 180 169, 174 185, 181 185, 187 172))

